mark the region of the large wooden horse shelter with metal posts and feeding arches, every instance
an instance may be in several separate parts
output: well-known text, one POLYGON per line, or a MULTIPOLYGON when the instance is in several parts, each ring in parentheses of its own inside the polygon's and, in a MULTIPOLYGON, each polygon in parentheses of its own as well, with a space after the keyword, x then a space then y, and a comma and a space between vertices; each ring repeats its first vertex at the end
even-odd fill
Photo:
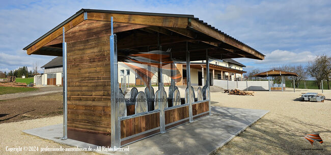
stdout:
MULTIPOLYGON (((209 77, 190 84, 190 61, 264 55, 194 15, 81 9, 23 48, 28 55, 63 57, 63 139, 121 147, 192 122, 210 112, 209 77), (118 62, 145 76, 145 91, 123 93, 118 62), (187 86, 176 86, 186 62, 187 86), (133 64, 133 65, 132 65, 133 64), (151 74, 156 70, 158 90, 151 74), (166 92, 162 74, 169 74, 166 92), (183 88, 184 89, 184 88, 183 88), (195 91, 197 93, 195 93, 195 91)), ((141 88, 139 88, 141 89, 141 88)))

